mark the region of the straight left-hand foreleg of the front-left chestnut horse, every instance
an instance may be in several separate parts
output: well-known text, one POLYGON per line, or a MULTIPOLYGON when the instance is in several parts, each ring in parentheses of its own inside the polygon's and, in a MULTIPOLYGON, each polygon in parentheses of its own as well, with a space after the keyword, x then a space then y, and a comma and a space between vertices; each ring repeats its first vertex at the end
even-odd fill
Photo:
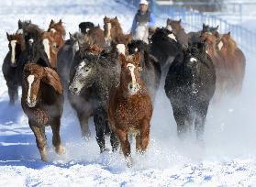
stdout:
POLYGON ((37 126, 36 123, 32 122, 31 120, 28 121, 28 124, 36 137, 37 146, 39 148, 41 159, 43 161, 47 161, 46 138, 45 138, 45 134, 43 133, 44 126, 39 127, 39 126, 37 126))

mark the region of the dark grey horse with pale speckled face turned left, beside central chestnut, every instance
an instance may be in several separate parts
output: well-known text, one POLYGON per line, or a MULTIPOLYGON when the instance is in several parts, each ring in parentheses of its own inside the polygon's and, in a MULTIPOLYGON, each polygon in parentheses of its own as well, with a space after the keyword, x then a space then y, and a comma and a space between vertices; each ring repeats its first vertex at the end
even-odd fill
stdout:
POLYGON ((109 129, 107 105, 109 103, 110 90, 112 87, 117 86, 119 81, 120 65, 117 61, 116 50, 114 48, 107 53, 87 52, 87 50, 84 50, 80 54, 69 90, 74 95, 82 94, 84 89, 93 91, 91 98, 93 98, 96 140, 100 152, 108 150, 105 145, 105 135, 109 133, 112 150, 115 151, 117 150, 117 136, 109 129))

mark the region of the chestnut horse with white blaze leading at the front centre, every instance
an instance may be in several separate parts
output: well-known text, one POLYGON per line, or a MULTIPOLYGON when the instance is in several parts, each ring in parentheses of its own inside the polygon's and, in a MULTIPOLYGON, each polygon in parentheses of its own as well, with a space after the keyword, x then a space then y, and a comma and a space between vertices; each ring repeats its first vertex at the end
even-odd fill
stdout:
POLYGON ((132 166, 128 134, 136 136, 136 149, 146 151, 150 139, 150 119, 152 104, 145 83, 139 75, 139 53, 126 56, 120 54, 120 83, 111 92, 108 106, 108 118, 116 132, 121 148, 127 159, 128 167, 132 166))

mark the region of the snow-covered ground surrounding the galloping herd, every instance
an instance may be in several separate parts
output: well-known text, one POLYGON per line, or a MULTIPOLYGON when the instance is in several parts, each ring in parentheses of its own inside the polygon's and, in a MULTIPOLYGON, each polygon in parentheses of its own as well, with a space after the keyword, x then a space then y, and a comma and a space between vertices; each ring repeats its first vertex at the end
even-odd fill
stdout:
MULTIPOLYGON (((50 19, 62 18, 67 31, 81 21, 103 24, 103 17, 117 16, 125 31, 135 11, 114 0, 9 0, 0 3, 0 61, 7 52, 6 31, 17 30, 17 20, 31 19, 48 28, 50 19)), ((164 20, 158 20, 164 23, 164 20)), ((7 87, 0 74, 0 186, 254 186, 256 185, 256 64, 245 51, 247 69, 244 87, 237 98, 211 105, 207 115, 205 144, 195 137, 180 140, 171 104, 162 87, 158 93, 150 128, 150 146, 143 156, 135 153, 134 167, 126 167, 123 155, 99 154, 95 127, 84 141, 71 108, 62 116, 61 138, 67 152, 57 156, 47 129, 50 162, 39 159, 35 137, 20 104, 8 106, 7 87)), ((2 63, 2 62, 1 62, 2 63)), ((109 138, 106 140, 108 147, 109 138)))

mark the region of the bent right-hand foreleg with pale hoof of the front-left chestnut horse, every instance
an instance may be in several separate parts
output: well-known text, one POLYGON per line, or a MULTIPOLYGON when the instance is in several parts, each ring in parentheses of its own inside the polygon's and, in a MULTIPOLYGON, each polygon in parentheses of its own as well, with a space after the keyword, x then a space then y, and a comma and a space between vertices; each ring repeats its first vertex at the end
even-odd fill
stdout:
POLYGON ((55 117, 52 119, 50 124, 52 130, 52 145, 55 147, 55 151, 61 155, 65 152, 65 148, 61 146, 61 136, 60 136, 60 127, 61 127, 61 117, 55 117))

